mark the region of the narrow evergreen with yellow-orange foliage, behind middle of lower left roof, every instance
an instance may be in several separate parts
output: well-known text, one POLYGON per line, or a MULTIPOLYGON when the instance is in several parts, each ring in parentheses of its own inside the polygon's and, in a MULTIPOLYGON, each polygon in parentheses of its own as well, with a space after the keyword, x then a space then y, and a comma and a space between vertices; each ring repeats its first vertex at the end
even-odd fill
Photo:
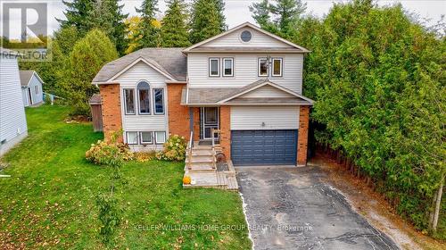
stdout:
POLYGON ((155 27, 155 15, 159 12, 158 0, 144 0, 141 8, 136 8, 136 12, 141 14, 142 21, 139 28, 139 47, 158 47, 161 44, 160 29, 155 27))

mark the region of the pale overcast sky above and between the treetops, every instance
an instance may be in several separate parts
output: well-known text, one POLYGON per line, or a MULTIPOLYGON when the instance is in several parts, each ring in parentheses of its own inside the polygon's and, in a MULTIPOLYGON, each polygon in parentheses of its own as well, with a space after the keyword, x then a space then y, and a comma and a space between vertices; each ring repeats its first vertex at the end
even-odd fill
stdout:
MULTIPOLYGON (((124 4, 123 12, 128 13, 130 16, 136 15, 135 7, 139 7, 143 0, 121 0, 121 4, 124 4)), ((249 11, 249 6, 252 3, 260 2, 260 0, 225 0, 226 8, 225 15, 226 21, 229 28, 235 27, 236 25, 244 22, 251 21, 255 23, 252 19, 251 12, 249 11)), ((333 6, 334 3, 348 2, 345 0, 310 0, 302 2, 307 4, 307 13, 312 13, 318 17, 323 17, 333 6)), ((65 5, 62 4, 62 0, 0 0, 0 7, 3 7, 4 3, 46 3, 48 6, 47 20, 49 34, 53 34, 53 31, 59 28, 59 22, 55 19, 64 19, 63 11, 65 5)), ((186 3, 192 3, 192 0, 186 0, 186 3)), ((446 15, 446 0, 379 0, 377 1, 379 5, 388 5, 401 3, 403 8, 412 13, 416 13, 420 18, 427 19, 427 25, 433 25, 437 21, 441 20, 442 15, 446 15)), ((166 3, 163 0, 159 0, 160 17, 162 13, 166 10, 166 3)), ((30 12, 28 15, 29 23, 32 23, 36 13, 30 12)), ((11 12, 10 21, 12 23, 20 23, 21 13, 11 12)), ((3 22, 3 10, 0 12, 0 21, 3 22)), ((3 27, 4 25, 1 25, 3 27)), ((20 25, 10 25, 11 37, 20 37, 20 25), (14 35, 15 33, 15 35, 14 35)), ((3 29, 1 30, 2 32, 3 29)), ((2 33, 3 34, 3 33, 2 33)))

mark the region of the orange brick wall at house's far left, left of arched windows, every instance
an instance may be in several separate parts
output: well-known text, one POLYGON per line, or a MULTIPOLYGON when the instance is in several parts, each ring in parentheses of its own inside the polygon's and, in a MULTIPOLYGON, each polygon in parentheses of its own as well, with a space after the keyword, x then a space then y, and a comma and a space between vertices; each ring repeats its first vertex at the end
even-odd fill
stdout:
MULTIPOLYGON (((103 136, 110 138, 112 132, 122 129, 122 116, 120 112, 120 85, 100 85, 102 112, 103 112, 103 136)), ((122 137, 119 138, 122 141, 122 137)))

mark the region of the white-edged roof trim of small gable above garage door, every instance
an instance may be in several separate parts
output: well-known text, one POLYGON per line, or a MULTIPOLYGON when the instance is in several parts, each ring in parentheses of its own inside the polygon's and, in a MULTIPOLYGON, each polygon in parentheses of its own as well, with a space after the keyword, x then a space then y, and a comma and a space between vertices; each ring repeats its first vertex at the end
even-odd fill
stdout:
POLYGON ((258 81, 253 82, 252 84, 246 85, 245 87, 240 87, 237 91, 231 93, 230 95, 220 98, 219 104, 229 103, 231 100, 235 99, 236 97, 243 96, 244 94, 247 94, 249 92, 252 92, 255 89, 258 89, 260 87, 267 86, 267 85, 270 87, 276 87, 277 89, 284 91, 285 93, 288 93, 291 96, 300 98, 302 101, 306 102, 307 104, 310 104, 310 105, 314 104, 314 101, 311 100, 310 98, 302 96, 302 95, 300 95, 286 87, 277 85, 276 83, 269 81, 269 79, 260 79, 258 81))

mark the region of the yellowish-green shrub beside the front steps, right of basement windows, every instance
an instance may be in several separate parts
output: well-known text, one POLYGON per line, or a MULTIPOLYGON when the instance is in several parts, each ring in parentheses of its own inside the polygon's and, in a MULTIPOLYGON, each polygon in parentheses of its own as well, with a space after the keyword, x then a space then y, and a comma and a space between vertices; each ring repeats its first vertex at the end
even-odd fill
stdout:
POLYGON ((186 145, 185 137, 172 135, 164 144, 164 150, 156 154, 156 158, 164 161, 184 161, 186 145))

